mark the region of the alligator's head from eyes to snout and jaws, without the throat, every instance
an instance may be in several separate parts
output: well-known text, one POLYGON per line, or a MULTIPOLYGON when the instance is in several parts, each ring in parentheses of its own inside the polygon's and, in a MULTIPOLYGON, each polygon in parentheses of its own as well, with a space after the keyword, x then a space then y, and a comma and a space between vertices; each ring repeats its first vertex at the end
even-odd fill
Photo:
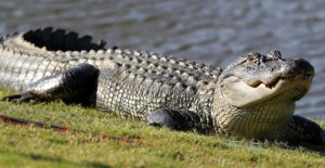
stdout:
POLYGON ((310 89, 313 76, 313 66, 302 59, 284 60, 277 50, 268 55, 249 53, 226 67, 221 89, 225 101, 237 107, 262 103, 286 91, 297 101, 310 89))

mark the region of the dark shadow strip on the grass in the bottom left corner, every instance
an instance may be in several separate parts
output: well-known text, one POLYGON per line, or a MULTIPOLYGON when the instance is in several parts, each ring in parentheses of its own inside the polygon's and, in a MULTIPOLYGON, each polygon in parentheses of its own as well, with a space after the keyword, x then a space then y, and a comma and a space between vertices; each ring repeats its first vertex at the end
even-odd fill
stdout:
MULTIPOLYGON (((62 166, 68 166, 68 167, 73 166, 73 167, 91 167, 91 168, 110 168, 109 165, 103 163, 76 164, 60 157, 50 157, 40 154, 26 154, 26 153, 18 153, 18 152, 16 153, 16 152, 0 151, 0 155, 17 156, 20 157, 20 159, 23 157, 31 161, 48 161, 53 165, 60 164, 62 166)), ((14 163, 15 160, 16 160, 15 157, 13 157, 12 161, 14 163)))

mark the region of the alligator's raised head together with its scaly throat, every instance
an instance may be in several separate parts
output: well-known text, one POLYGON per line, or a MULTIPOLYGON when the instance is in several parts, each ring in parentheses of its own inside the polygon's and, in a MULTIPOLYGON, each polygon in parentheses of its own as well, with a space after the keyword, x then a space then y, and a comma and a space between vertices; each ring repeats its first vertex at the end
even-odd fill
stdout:
POLYGON ((309 62, 282 59, 276 50, 239 57, 219 78, 213 111, 221 112, 214 113, 216 122, 226 134, 277 139, 313 76, 309 62))

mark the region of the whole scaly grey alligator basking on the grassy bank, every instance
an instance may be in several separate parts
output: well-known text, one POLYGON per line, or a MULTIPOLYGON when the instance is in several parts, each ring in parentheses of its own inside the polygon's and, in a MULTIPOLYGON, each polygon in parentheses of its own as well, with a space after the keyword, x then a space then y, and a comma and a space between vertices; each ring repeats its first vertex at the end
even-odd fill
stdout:
POLYGON ((295 115, 313 66, 278 50, 219 67, 154 52, 106 48, 91 36, 51 27, 0 39, 2 100, 61 100, 172 130, 322 144, 325 131, 295 115))

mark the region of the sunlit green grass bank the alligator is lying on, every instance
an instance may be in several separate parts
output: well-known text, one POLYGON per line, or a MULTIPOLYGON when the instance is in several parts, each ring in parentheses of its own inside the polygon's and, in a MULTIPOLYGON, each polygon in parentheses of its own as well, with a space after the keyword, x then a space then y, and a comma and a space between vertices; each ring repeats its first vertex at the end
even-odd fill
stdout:
MULTIPOLYGON (((9 94, 0 90, 0 98, 9 94)), ((177 132, 113 114, 65 105, 0 102, 0 114, 78 131, 0 121, 0 167, 322 167, 325 146, 235 141, 177 132), (90 133, 90 132, 94 132, 90 133), (133 142, 103 139, 108 134, 133 142), (141 145, 139 142, 144 141, 141 145)))

